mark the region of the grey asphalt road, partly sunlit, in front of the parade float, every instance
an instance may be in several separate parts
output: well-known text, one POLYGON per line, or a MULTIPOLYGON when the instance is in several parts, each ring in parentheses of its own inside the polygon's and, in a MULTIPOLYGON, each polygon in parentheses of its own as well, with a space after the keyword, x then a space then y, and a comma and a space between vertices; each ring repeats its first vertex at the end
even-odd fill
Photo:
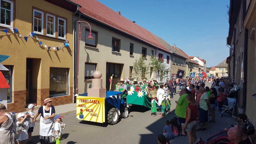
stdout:
MULTIPOLYGON (((209 86, 209 84, 206 84, 209 86)), ((177 92, 179 90, 177 89, 177 92)), ((66 115, 62 118, 66 125, 62 134, 62 144, 156 144, 156 137, 163 133, 165 119, 170 119, 174 114, 176 107, 175 100, 179 99, 179 94, 172 99, 172 112, 167 117, 153 117, 151 110, 143 106, 133 106, 130 109, 127 118, 119 118, 115 125, 108 125, 107 123, 94 123, 88 121, 81 121, 76 118, 76 114, 66 115)), ((158 112, 159 113, 159 112, 158 112)), ((217 111, 216 111, 217 113, 217 111)), ((209 120, 211 117, 209 116, 209 120)), ((208 132, 196 132, 197 137, 202 139, 209 138, 213 134, 219 132, 225 127, 230 127, 234 124, 235 119, 229 114, 222 117, 216 115, 216 124, 208 124, 208 132)), ((199 126, 198 126, 199 127, 199 126)), ((36 122, 36 127, 32 133, 32 141, 39 142, 39 123, 36 122)), ((171 140, 172 144, 188 143, 188 138, 185 136, 176 137, 171 140)))

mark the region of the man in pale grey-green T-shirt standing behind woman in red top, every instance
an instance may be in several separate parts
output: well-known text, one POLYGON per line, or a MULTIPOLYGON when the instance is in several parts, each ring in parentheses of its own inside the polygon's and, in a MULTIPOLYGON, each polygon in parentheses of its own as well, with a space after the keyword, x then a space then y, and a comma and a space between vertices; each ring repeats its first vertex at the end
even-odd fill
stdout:
POLYGON ((196 132, 207 131, 208 123, 208 108, 210 108, 210 102, 208 99, 208 94, 205 92, 205 88, 201 87, 199 91, 202 93, 200 97, 199 106, 200 106, 200 128, 196 132), (204 128, 203 128, 204 127, 204 128))

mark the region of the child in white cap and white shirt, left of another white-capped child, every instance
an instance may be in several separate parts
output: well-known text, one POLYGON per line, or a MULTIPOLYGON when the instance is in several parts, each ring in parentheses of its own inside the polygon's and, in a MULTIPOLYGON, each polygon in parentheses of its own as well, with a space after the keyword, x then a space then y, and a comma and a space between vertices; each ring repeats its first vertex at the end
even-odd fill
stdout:
POLYGON ((26 120, 26 118, 30 119, 30 122, 33 123, 32 118, 30 115, 25 115, 24 113, 18 114, 18 121, 16 123, 17 125, 17 131, 20 131, 18 134, 18 144, 26 144, 28 140, 28 127, 29 127, 29 121, 26 120))

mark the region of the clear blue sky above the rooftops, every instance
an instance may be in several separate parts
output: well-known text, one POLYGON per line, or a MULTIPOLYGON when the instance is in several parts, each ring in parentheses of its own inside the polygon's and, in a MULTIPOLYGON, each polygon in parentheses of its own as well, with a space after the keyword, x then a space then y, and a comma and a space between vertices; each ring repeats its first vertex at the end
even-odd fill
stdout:
POLYGON ((98 0, 189 56, 218 65, 229 56, 229 0, 98 0))

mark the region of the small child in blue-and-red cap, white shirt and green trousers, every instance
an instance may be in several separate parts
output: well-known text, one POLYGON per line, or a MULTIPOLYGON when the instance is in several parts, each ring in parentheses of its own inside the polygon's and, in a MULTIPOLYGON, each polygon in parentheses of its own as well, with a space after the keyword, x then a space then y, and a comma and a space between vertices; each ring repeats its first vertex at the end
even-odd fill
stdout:
POLYGON ((54 124, 54 137, 56 140, 56 144, 60 144, 60 140, 61 140, 61 132, 65 127, 65 124, 63 124, 63 121, 61 120, 61 118, 63 118, 63 116, 60 115, 56 115, 54 116, 54 119, 56 120, 55 124, 54 124))

